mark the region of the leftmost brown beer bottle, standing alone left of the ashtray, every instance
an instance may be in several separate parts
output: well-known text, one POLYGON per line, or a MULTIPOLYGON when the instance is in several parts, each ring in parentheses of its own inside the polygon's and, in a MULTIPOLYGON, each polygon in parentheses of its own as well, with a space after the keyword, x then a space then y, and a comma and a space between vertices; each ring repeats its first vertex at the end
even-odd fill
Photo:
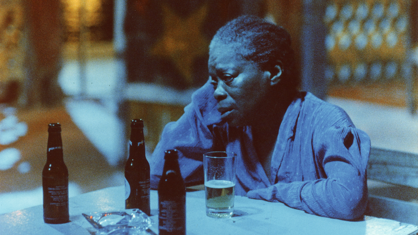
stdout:
POLYGON ((68 169, 64 163, 61 124, 48 125, 46 164, 42 171, 43 221, 48 224, 69 222, 68 169))

